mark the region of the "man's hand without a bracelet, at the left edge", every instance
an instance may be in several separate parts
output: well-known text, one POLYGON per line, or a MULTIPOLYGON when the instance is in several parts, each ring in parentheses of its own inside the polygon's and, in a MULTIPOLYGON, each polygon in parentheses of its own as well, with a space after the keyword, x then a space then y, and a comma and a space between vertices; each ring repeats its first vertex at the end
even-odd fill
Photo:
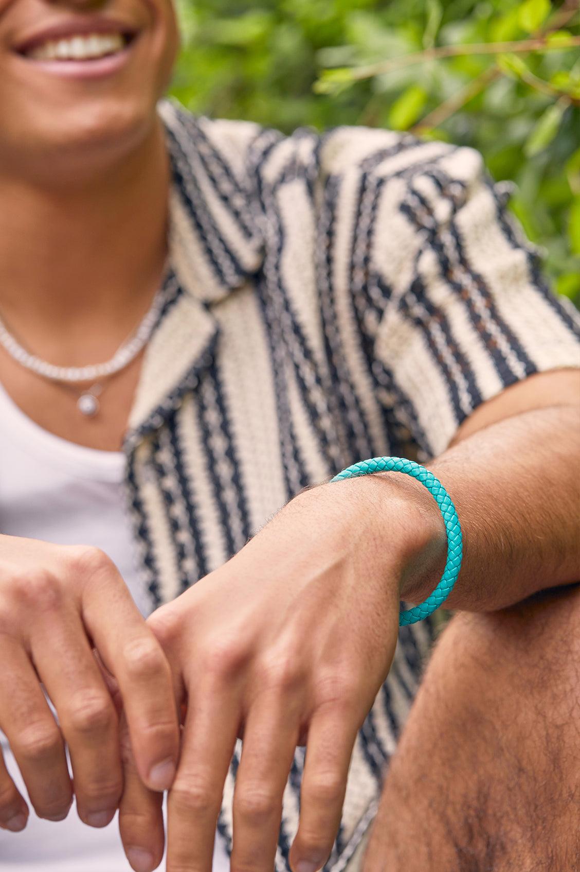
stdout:
MULTIPOLYGON (((68 814, 73 787, 91 826, 118 807, 118 715, 98 658, 118 683, 140 777, 170 787, 179 727, 169 664, 113 563, 96 548, 0 536, 0 728, 30 802, 52 821, 68 814)), ((0 754, 0 826, 22 829, 27 817, 0 754)))

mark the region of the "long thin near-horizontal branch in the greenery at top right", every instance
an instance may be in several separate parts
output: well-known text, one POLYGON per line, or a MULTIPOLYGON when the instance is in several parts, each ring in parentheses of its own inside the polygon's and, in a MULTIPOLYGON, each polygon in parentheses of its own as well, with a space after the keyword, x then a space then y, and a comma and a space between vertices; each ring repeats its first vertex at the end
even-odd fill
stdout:
POLYGON ((576 48, 578 45, 580 45, 580 37, 569 37, 568 39, 557 41, 540 38, 515 39, 502 43, 439 45, 433 49, 426 49, 426 51, 415 51, 413 54, 403 55, 401 58, 388 58, 388 60, 380 61, 378 64, 353 67, 350 72, 353 80, 358 81, 362 78, 373 78, 374 76, 380 76, 386 72, 401 70, 406 66, 422 64, 425 61, 439 60, 440 58, 458 58, 466 55, 504 54, 509 52, 516 54, 523 51, 563 51, 563 49, 576 48))

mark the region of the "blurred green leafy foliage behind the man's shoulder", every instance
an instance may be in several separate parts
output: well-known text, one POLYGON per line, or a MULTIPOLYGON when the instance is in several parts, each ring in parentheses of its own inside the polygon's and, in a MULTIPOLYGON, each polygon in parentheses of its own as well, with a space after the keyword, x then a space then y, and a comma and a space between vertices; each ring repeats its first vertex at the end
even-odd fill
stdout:
POLYGON ((172 94, 289 132, 388 126, 474 146, 580 304, 580 0, 178 0, 172 94))

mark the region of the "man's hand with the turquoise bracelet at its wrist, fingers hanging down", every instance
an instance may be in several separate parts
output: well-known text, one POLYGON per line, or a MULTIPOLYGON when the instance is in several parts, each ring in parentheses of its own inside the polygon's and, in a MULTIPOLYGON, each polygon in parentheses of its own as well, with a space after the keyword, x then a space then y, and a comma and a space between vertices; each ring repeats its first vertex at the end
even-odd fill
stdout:
MULTIPOLYGON (((300 743, 307 758, 291 861, 310 872, 327 860, 354 740, 395 652, 401 583, 429 549, 444 548, 437 509, 423 509, 415 484, 374 477, 300 494, 225 566, 149 618, 186 707, 168 799, 168 872, 210 872, 237 736, 233 869, 273 869, 300 743)), ((130 777, 119 816, 125 844, 152 843, 157 810, 146 803, 130 777)))

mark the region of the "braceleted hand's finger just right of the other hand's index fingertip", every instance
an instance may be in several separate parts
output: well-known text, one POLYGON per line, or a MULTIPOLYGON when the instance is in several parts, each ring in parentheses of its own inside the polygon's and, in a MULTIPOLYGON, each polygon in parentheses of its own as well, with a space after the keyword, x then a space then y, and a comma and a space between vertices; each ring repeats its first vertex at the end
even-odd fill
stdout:
POLYGON ((238 725, 239 704, 229 689, 214 686, 190 699, 179 771, 167 800, 167 872, 211 872, 238 725))

